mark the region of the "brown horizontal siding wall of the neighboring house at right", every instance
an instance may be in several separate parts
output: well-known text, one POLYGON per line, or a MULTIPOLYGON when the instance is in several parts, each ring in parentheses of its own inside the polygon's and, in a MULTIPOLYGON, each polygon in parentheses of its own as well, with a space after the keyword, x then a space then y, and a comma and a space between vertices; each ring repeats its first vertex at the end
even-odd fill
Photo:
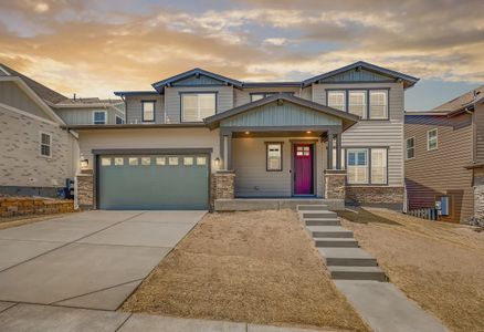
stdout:
POLYGON ((440 195, 451 196, 452 216, 448 221, 463 221, 473 214, 472 117, 406 116, 406 138, 415 137, 415 156, 406 160, 409 209, 433 207, 440 195), (438 129, 438 148, 427 149, 427 133, 438 129))

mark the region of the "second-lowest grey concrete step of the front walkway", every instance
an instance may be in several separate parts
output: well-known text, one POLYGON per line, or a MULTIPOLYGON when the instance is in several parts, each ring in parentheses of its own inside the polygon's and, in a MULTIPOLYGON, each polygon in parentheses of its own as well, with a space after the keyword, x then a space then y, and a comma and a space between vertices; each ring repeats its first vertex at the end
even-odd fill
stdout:
POLYGON ((328 267, 376 267, 377 260, 360 248, 318 248, 328 267))

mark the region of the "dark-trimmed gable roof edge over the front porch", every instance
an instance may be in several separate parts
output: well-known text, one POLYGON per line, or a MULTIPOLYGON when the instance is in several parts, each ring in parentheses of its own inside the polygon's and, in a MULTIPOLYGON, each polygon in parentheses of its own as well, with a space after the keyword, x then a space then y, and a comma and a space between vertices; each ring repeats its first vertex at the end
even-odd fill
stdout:
POLYGON ((306 108, 311 108, 313 111, 316 112, 320 112, 324 114, 328 114, 328 115, 333 115, 336 116, 338 118, 343 120, 343 124, 344 124, 344 129, 349 128, 350 126, 353 126, 355 123, 357 123, 359 121, 359 116, 350 114, 350 113, 346 113, 339 110, 335 110, 333 107, 328 107, 308 100, 304 100, 301 97, 296 97, 294 95, 291 94, 286 94, 286 93, 278 93, 278 94, 274 94, 274 95, 270 95, 265 98, 262 100, 257 100, 255 102, 252 103, 248 103, 248 104, 243 104, 241 106, 231 108, 229 111, 206 117, 203 120, 203 122, 210 127, 210 128, 215 128, 219 126, 220 122, 222 120, 249 112, 251 110, 254 110, 256 107, 260 106, 264 106, 267 105, 270 103, 273 102, 277 102, 277 101, 287 101, 290 103, 306 107, 306 108))

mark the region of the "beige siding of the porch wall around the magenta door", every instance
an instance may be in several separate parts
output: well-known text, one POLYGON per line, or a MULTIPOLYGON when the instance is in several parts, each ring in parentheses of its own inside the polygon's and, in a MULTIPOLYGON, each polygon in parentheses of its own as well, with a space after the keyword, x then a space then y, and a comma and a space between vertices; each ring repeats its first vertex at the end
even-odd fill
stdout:
MULTIPOLYGON (((287 137, 233 138, 232 166, 235 170, 235 197, 291 197, 291 139, 287 137), (283 170, 266 170, 265 142, 283 142, 283 170)), ((301 139, 301 138, 299 138, 301 139)), ((322 197, 323 155, 322 143, 316 144, 317 196, 322 197)))

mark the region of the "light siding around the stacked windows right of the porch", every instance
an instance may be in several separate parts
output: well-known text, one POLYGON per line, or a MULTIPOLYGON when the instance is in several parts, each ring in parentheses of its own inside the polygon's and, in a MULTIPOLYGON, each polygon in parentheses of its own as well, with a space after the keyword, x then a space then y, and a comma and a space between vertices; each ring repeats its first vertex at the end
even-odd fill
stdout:
POLYGON ((388 186, 403 181, 403 83, 313 84, 313 101, 326 105, 326 90, 389 89, 389 120, 360 121, 341 135, 341 146, 388 147, 388 186))

